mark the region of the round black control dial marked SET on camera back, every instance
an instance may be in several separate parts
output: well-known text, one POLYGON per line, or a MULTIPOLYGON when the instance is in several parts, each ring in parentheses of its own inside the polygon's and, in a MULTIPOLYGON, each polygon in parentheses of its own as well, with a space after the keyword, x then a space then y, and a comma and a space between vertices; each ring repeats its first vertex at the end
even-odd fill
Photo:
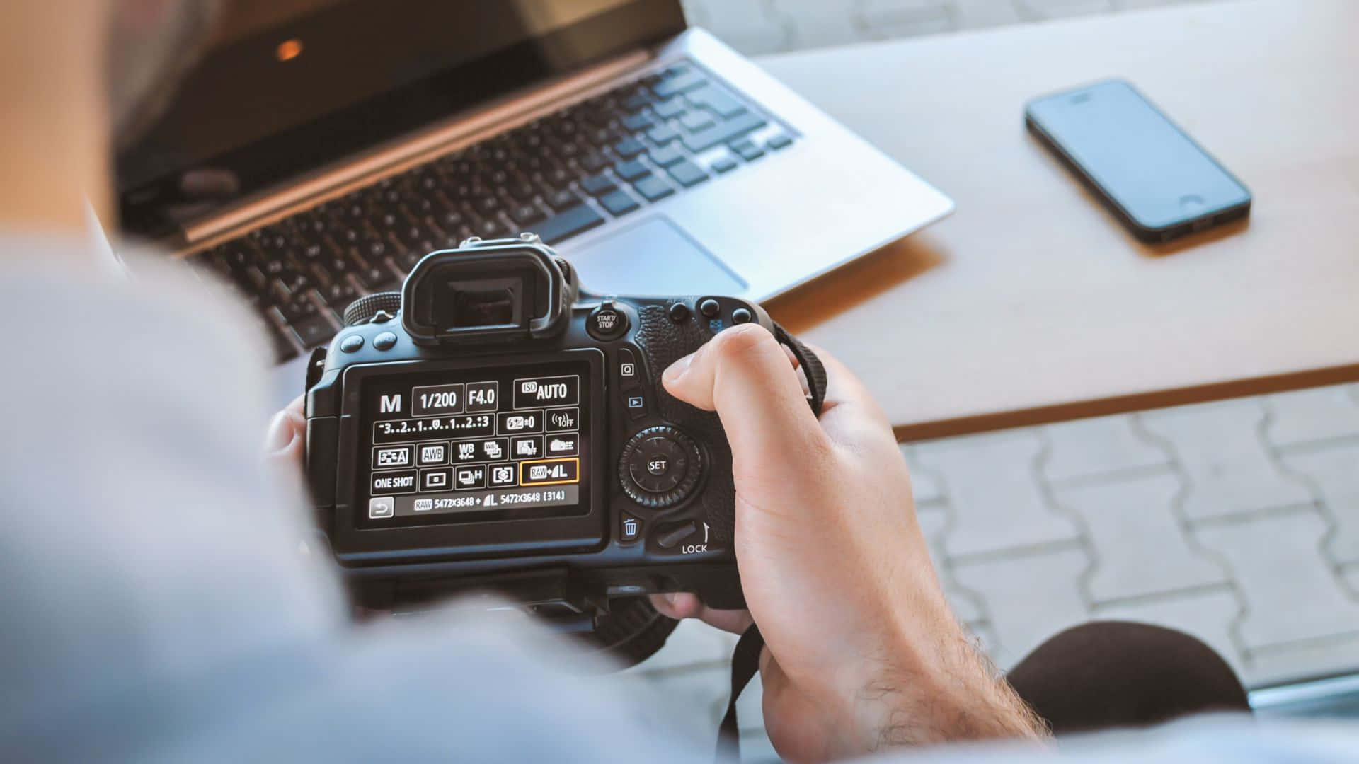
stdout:
POLYGON ((622 447, 618 483, 643 507, 659 510, 689 498, 703 474, 699 446, 674 427, 648 427, 622 447))

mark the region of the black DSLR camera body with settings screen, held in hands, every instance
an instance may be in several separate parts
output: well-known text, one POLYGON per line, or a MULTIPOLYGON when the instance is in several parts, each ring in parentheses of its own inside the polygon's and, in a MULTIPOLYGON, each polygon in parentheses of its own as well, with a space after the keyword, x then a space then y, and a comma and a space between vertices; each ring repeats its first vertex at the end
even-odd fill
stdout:
POLYGON ((660 374, 728 326, 775 330, 760 306, 590 295, 525 234, 431 253, 345 322, 308 368, 306 470, 359 604, 743 606, 727 438, 660 374))

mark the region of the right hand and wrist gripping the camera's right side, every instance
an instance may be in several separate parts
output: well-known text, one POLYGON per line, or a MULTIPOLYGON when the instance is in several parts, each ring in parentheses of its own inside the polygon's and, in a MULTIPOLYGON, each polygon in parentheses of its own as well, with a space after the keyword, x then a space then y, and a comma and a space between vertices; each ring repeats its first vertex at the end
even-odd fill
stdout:
POLYGON ((839 362, 819 421, 790 356, 757 325, 666 370, 677 398, 716 411, 731 442, 746 612, 656 595, 674 617, 760 624, 765 727, 780 756, 1038 738, 1042 723, 977 654, 930 563, 886 416, 839 362))

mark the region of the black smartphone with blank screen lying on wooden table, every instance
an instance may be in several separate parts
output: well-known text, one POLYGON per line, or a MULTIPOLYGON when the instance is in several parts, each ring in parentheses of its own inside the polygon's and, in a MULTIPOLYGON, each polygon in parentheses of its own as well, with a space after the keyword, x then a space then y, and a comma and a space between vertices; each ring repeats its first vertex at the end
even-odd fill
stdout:
POLYGON ((1250 190, 1124 80, 1030 101, 1025 124, 1139 241, 1250 213, 1250 190))

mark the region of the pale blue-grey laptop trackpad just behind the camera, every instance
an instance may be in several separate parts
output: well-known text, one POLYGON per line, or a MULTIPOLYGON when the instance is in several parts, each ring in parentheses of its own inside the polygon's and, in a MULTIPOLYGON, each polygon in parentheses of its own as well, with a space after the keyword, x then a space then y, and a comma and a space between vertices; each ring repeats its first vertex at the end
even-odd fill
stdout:
POLYGON ((746 283, 666 218, 572 249, 580 285, 609 295, 737 295, 746 283))

